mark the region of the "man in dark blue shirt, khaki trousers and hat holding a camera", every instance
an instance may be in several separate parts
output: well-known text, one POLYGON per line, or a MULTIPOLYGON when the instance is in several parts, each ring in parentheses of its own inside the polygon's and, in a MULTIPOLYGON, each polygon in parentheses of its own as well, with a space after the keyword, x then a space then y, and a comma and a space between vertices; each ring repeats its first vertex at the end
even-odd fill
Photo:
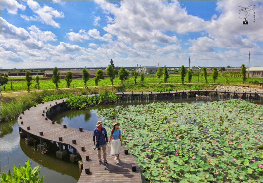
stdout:
POLYGON ((93 130, 93 141, 95 147, 98 147, 98 159, 99 164, 101 165, 101 149, 103 151, 103 159, 104 164, 109 165, 107 162, 107 153, 106 153, 106 142, 108 142, 107 131, 104 127, 102 127, 102 122, 98 121, 95 130, 93 130), (95 142, 96 136, 96 142, 95 142))

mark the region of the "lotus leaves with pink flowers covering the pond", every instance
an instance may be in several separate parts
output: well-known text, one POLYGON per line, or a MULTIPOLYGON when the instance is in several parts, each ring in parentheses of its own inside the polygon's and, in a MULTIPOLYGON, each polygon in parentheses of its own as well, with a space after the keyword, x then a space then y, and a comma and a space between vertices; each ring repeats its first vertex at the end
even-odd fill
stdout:
POLYGON ((99 110, 148 182, 262 182, 262 106, 240 99, 99 110))

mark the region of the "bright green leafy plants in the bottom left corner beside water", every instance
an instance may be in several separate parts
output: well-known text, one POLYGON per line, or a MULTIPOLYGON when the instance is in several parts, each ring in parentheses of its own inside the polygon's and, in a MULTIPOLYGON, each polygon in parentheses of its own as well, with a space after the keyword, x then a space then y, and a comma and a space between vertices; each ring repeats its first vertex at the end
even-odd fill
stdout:
POLYGON ((4 172, 1 173, 1 182, 43 182, 44 176, 39 178, 39 172, 38 170, 39 166, 35 167, 33 170, 29 164, 28 161, 25 162, 25 166, 18 166, 16 167, 14 165, 14 171, 13 175, 11 174, 10 170, 8 170, 8 174, 5 174, 4 172))

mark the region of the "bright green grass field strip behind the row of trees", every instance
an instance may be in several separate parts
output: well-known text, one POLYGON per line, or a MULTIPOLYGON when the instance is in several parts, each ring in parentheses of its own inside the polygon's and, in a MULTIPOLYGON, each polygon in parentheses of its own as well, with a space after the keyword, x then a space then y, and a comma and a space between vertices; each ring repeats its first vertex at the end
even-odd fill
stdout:
MULTIPOLYGON (((246 83, 248 83, 249 81, 259 81, 262 82, 262 78, 247 78, 246 83)), ((210 84, 213 84, 213 80, 212 77, 207 77, 207 81, 210 84)), ((228 77, 228 81, 229 83, 237 83, 237 84, 242 84, 242 79, 241 77, 228 77)), ((40 89, 55 89, 55 84, 51 81, 51 80, 40 80, 40 89)), ((115 79, 113 81, 114 85, 120 85, 121 81, 119 79, 115 79)), ((144 78, 144 84, 158 84, 158 79, 155 76, 146 76, 144 78)), ((160 78, 160 83, 163 84, 163 77, 160 78)), ((168 83, 181 83, 181 77, 180 76, 170 76, 168 79, 168 83)), ((187 77, 185 77, 185 83, 188 83, 188 79, 187 77)), ((192 77, 192 81, 191 84, 195 84, 198 83, 198 76, 193 76, 192 77)), ((203 76, 199 76, 199 83, 200 84, 204 84, 205 83, 205 78, 203 76)), ((218 79, 215 81, 215 83, 220 83, 220 84, 226 84, 226 77, 218 77, 218 79)), ((35 88, 35 80, 32 81, 32 84, 30 86, 30 89, 33 90, 35 88)), ((105 80, 101 80, 98 83, 98 86, 107 86, 110 85, 110 79, 109 78, 105 78, 105 80)), ((137 84, 141 84, 140 81, 140 76, 137 77, 137 84)), ((134 86, 134 78, 133 77, 129 77, 129 80, 125 81, 125 85, 132 85, 134 86)), ((23 90, 27 90, 27 85, 25 81, 13 81, 13 91, 23 91, 23 90)), ((58 84, 59 88, 66 88, 66 82, 64 79, 60 80, 60 83, 58 84)), ((70 86, 73 87, 83 87, 84 86, 84 82, 81 78, 79 79, 73 79, 73 81, 71 82, 70 86)), ((95 82, 94 82, 94 78, 89 79, 89 81, 87 82, 87 86, 88 87, 93 87, 95 86, 95 82)), ((6 87, 6 91, 12 91, 11 90, 11 82, 8 82, 8 84, 5 85, 6 87)), ((1 91, 3 91, 3 86, 1 86, 1 91)))

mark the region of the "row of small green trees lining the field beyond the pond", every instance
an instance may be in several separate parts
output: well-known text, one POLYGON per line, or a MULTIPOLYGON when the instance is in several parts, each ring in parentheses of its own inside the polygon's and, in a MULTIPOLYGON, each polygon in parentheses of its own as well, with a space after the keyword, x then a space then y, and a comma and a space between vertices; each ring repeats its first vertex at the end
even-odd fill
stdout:
MULTIPOLYGON (((203 67, 202 68, 202 72, 203 72, 203 76, 205 77, 205 82, 207 82, 207 68, 203 67)), ((181 70, 180 70, 180 74, 181 74, 181 80, 182 80, 182 84, 184 84, 184 78, 186 76, 186 68, 184 67, 184 65, 181 66, 181 70)), ((110 65, 108 65, 108 68, 106 69, 106 75, 108 75, 110 77, 110 81, 111 81, 111 86, 114 86, 113 84, 113 80, 116 78, 117 75, 119 75, 119 79, 121 80, 122 84, 125 83, 125 80, 128 80, 128 76, 129 76, 129 72, 127 70, 125 70, 124 67, 120 68, 119 72, 116 72, 116 70, 114 69, 114 63, 113 60, 110 61, 110 65)), ((30 71, 26 71, 25 73, 25 81, 27 82, 27 91, 30 92, 30 85, 32 84, 32 76, 30 75, 30 71)), ((87 87, 87 82, 89 80, 89 76, 90 73, 86 70, 86 68, 82 69, 82 79, 84 82, 84 87, 87 87)), ((165 67, 164 70, 159 67, 157 72, 156 72, 156 77, 158 78, 158 83, 160 84, 160 78, 161 76, 164 76, 164 82, 167 83, 168 78, 169 78, 169 74, 168 74, 168 70, 165 67)), ((187 71, 187 76, 188 76, 188 82, 191 83, 192 80, 192 71, 188 70, 187 71)), ((134 70, 134 84, 137 84, 137 72, 136 70, 134 70)), ((212 72, 212 78, 213 78, 213 82, 215 83, 215 80, 217 80, 218 77, 218 71, 217 68, 214 67, 213 68, 213 72, 212 72)), ((227 80, 228 76, 226 75, 226 83, 228 83, 227 80)), ((241 66, 241 78, 243 80, 243 83, 245 84, 246 82, 246 68, 245 65, 242 64, 241 66)), ((104 80, 104 73, 103 71, 100 69, 96 72, 96 75, 94 77, 94 81, 95 81, 95 85, 98 86, 98 82, 100 80, 104 80)), ((57 67, 55 67, 53 69, 53 76, 51 78, 51 81, 56 85, 56 89, 59 89, 58 87, 58 83, 60 83, 61 77, 60 77, 60 72, 58 70, 57 67)), ((65 76, 65 81, 67 83, 67 87, 70 88, 70 83, 73 80, 73 73, 72 72, 67 72, 66 76, 65 76)), ((144 81, 144 73, 141 72, 141 84, 143 84, 144 81)), ((8 75, 5 74, 1 74, 1 86, 4 86, 4 90, 5 88, 5 84, 8 83, 8 75)), ((36 86, 35 89, 38 87, 39 89, 39 76, 36 77, 36 86)), ((12 89, 12 84, 11 84, 11 89, 12 89)))

